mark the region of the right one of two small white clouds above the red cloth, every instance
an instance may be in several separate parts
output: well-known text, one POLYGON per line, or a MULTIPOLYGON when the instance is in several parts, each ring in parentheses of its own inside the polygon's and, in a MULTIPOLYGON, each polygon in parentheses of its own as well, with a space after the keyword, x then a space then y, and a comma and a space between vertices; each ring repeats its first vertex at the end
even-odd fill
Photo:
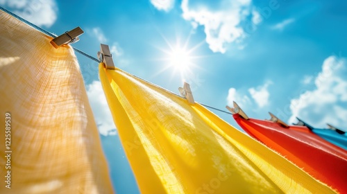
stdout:
POLYGON ((248 92, 251 94, 251 97, 253 100, 255 100, 255 103, 262 108, 269 104, 269 91, 268 87, 271 85, 272 82, 268 81, 264 85, 257 87, 256 89, 254 87, 248 89, 248 92))

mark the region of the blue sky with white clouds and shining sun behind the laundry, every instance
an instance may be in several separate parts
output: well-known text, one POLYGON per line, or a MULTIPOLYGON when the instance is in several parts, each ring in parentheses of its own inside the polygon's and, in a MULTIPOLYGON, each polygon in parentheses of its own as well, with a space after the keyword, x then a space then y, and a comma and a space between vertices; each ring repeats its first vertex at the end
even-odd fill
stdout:
MULTIPOLYGON (((186 80, 197 102, 226 110, 235 100, 252 118, 269 118, 270 111, 289 123, 298 116, 314 127, 331 123, 347 130, 345 1, 0 0, 0 5, 58 35, 81 26, 85 34, 76 48, 96 56, 100 43, 108 44, 117 67, 176 94, 186 80)), ((112 130, 97 64, 76 55, 99 130, 109 134, 102 136, 103 146, 119 183, 130 168, 112 130), (112 149, 120 151, 115 155, 112 149)), ((232 116, 215 114, 239 128, 232 116)), ((119 192, 136 191, 117 183, 119 192)))

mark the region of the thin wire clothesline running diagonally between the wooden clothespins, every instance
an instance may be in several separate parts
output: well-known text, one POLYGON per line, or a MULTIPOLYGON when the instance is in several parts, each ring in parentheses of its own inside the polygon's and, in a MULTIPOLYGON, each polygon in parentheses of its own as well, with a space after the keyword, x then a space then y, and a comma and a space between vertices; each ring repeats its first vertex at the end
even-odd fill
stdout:
MULTIPOLYGON (((15 18, 18 19, 19 21, 22 21, 22 22, 24 22, 25 24, 28 24, 28 26, 31 26, 31 27, 35 28, 36 30, 39 30, 40 32, 42 32, 42 33, 44 33, 44 34, 46 34, 46 35, 49 35, 49 36, 51 36, 51 37, 58 37, 57 35, 55 35, 55 34, 53 34, 53 33, 50 33, 50 32, 47 31, 47 30, 44 30, 44 28, 41 28, 41 27, 39 27, 39 26, 36 26, 35 24, 31 23, 30 21, 28 21, 28 20, 26 20, 26 19, 20 17, 19 15, 16 15, 16 14, 13 13, 13 12, 10 12, 9 10, 6 10, 5 8, 3 8, 3 7, 1 7, 1 6, 0 6, 0 10, 3 10, 3 12, 6 12, 6 13, 8 13, 9 15, 12 15, 12 17, 15 17, 15 18)), ((71 46, 71 47, 74 48, 74 51, 76 51, 77 53, 80 53, 81 55, 85 56, 86 58, 90 58, 90 60, 94 60, 94 61, 97 62, 97 63, 100 63, 100 62, 101 62, 99 59, 94 58, 92 55, 89 55, 89 54, 87 54, 87 53, 85 53, 85 52, 79 50, 78 48, 75 48, 74 46, 71 46)), ((155 84, 153 84, 152 82, 149 82, 149 81, 147 81, 147 80, 144 80, 144 79, 142 79, 142 78, 139 78, 139 77, 137 77, 137 76, 135 76, 135 75, 133 75, 133 74, 131 74, 131 73, 129 73, 129 74, 130 74, 131 76, 134 76, 135 78, 138 78, 138 79, 140 79, 140 80, 143 80, 144 82, 147 82, 147 83, 150 83, 150 84, 152 84, 152 85, 155 85, 155 84)), ((160 87, 160 86, 158 86, 158 85, 155 85, 155 86, 160 87)), ((161 89, 164 89, 163 87, 160 87, 160 88, 161 88, 161 89)), ((169 93, 171 93, 171 94, 174 94, 174 95, 176 95, 176 96, 179 96, 178 94, 175 94, 175 93, 172 92, 172 91, 169 91, 169 90, 167 90, 167 89, 164 89, 164 90, 167 91, 167 92, 169 92, 169 93)), ((182 98, 182 96, 179 96, 179 97, 182 98)), ((209 105, 204 105, 203 103, 200 103, 200 104, 203 105, 204 107, 208 107, 208 108, 210 108, 210 109, 214 109, 214 110, 217 110, 217 111, 219 111, 219 112, 223 112, 223 113, 226 113, 226 114, 232 114, 232 113, 230 113, 230 112, 223 111, 222 109, 217 109, 217 108, 212 107, 212 106, 209 106, 209 105)))

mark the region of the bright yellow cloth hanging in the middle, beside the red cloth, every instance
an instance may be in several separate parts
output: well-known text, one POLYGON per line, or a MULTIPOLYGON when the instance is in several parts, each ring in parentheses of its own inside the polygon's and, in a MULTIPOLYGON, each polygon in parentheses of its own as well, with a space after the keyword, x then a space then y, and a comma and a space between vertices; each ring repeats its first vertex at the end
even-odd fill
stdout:
POLYGON ((201 105, 99 64, 142 193, 334 193, 201 105))

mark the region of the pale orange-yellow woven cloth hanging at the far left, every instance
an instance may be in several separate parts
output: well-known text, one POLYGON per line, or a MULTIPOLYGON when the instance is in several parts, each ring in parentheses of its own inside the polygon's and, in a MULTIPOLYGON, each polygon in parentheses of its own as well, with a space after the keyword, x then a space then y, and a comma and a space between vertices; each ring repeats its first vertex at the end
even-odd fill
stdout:
POLYGON ((113 193, 73 49, 2 11, 0 26, 0 193, 113 193))

